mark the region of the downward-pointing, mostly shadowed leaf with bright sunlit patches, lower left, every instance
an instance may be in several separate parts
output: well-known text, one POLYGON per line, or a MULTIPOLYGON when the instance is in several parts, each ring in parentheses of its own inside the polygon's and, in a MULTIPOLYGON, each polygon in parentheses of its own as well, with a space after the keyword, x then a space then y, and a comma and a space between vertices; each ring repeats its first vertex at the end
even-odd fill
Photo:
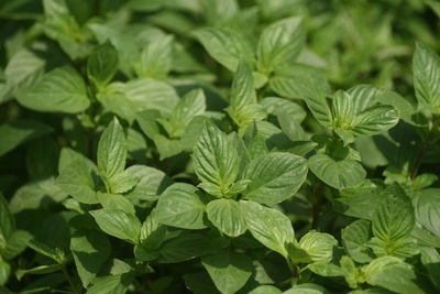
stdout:
POLYGON ((82 286, 87 287, 110 257, 111 246, 99 231, 81 229, 72 235, 70 250, 82 286))

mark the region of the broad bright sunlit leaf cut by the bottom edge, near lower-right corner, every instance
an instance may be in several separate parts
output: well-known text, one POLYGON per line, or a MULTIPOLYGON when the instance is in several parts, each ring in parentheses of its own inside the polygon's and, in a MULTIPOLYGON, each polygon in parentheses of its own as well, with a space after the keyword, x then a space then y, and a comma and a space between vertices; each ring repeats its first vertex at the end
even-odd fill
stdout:
POLYGON ((425 293, 413 281, 416 274, 408 263, 398 258, 383 257, 373 260, 363 269, 365 280, 371 285, 378 285, 400 294, 425 293))

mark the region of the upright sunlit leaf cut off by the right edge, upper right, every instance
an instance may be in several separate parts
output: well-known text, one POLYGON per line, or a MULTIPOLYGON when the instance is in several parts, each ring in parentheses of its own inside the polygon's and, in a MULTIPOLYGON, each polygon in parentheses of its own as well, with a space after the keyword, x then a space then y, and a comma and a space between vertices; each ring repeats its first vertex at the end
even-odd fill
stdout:
POLYGON ((427 45, 417 43, 413 57, 414 87, 420 106, 433 112, 440 108, 440 58, 427 45))

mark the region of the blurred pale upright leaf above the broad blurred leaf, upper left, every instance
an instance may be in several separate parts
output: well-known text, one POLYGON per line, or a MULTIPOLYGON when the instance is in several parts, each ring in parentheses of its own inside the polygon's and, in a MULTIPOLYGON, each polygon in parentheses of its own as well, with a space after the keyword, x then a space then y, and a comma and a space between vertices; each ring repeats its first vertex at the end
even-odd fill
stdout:
POLYGON ((164 78, 172 67, 173 36, 162 35, 146 44, 142 50, 141 61, 134 65, 138 76, 164 78))

